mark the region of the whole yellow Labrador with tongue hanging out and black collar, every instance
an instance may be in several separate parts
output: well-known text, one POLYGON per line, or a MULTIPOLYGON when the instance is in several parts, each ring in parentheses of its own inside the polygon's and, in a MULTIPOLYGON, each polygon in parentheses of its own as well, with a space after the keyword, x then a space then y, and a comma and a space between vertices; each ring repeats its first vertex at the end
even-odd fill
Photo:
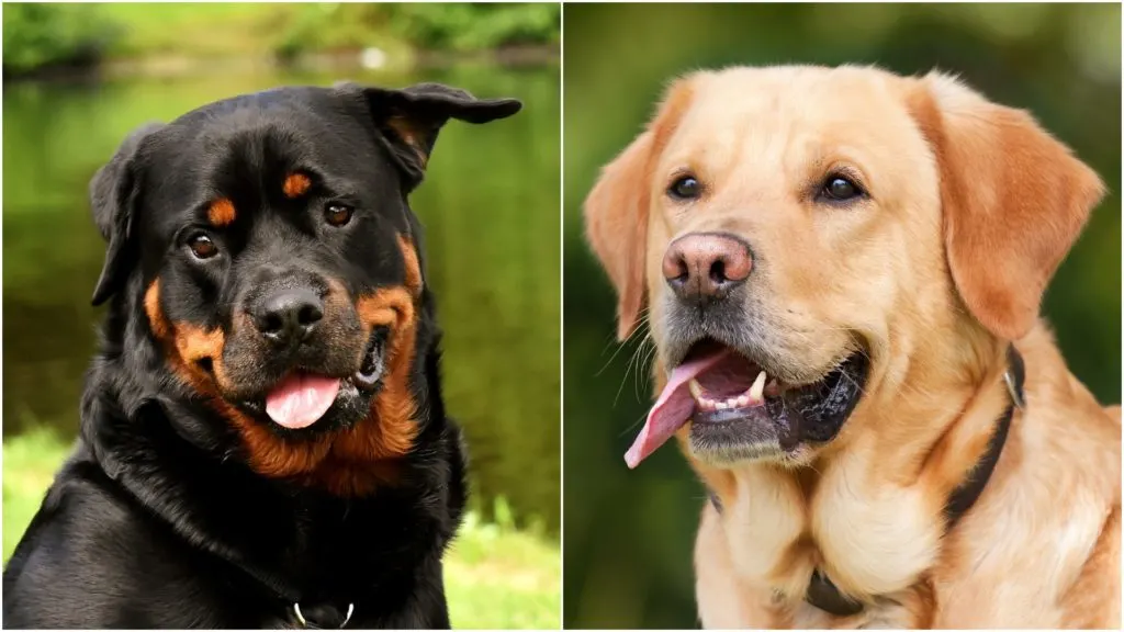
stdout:
POLYGON ((656 352, 625 462, 707 489, 704 628, 1120 628, 1120 408, 1037 318, 1102 192, 945 75, 673 82, 584 217, 656 352))

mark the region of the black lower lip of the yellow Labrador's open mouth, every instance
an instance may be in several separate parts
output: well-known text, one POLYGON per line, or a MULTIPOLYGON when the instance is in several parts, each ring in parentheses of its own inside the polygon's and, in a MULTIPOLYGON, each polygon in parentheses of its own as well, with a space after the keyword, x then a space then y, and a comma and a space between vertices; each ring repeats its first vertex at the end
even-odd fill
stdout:
POLYGON ((767 395, 764 404, 692 415, 691 448, 696 453, 791 453, 804 443, 835 437, 863 394, 870 360, 859 351, 810 383, 767 395))

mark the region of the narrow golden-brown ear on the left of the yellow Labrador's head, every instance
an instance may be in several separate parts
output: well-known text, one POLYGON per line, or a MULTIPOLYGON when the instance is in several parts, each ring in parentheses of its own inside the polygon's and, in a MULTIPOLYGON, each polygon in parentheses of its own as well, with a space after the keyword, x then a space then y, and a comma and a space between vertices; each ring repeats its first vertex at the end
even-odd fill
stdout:
POLYGON ((680 80, 668 90, 647 128, 601 170, 586 198, 586 236, 617 290, 617 338, 627 338, 646 301, 644 261, 655 161, 690 103, 680 80))

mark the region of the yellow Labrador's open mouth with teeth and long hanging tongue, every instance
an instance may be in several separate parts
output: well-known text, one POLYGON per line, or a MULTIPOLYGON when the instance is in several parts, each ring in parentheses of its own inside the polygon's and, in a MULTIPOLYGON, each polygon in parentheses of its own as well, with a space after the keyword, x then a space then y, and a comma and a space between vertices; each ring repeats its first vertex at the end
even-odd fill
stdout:
POLYGON ((671 372, 625 461, 635 468, 688 423, 692 453, 715 462, 830 441, 862 395, 868 367, 867 354, 856 352, 816 381, 785 383, 735 349, 696 343, 671 372))

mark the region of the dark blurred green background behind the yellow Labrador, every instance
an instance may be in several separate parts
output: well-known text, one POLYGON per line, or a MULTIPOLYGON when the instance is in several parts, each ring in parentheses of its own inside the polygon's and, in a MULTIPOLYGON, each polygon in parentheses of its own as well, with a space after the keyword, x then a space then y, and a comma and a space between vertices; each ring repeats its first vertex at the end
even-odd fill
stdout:
POLYGON ((614 342, 614 295, 580 222, 598 169, 635 137, 677 74, 732 64, 941 67, 1032 110, 1109 189, 1044 312, 1077 377, 1102 401, 1121 400, 1118 4, 566 4, 563 12, 568 628, 697 626, 690 552, 704 491, 676 449, 625 469, 651 401, 649 367, 632 360, 635 343, 614 342))

